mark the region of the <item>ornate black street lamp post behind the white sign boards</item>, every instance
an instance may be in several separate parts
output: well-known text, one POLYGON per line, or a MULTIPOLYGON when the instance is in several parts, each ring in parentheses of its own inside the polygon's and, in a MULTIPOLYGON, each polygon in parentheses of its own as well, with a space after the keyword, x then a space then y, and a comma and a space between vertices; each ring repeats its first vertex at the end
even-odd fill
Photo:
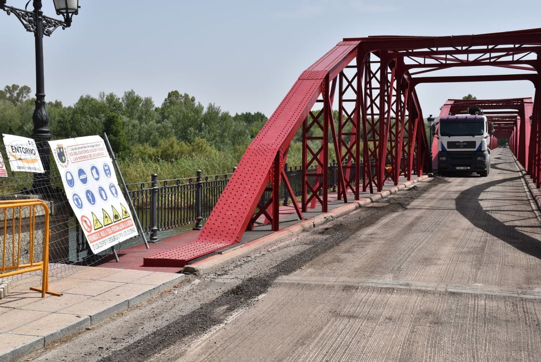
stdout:
POLYGON ((50 36, 58 27, 62 27, 62 29, 69 28, 72 16, 78 14, 79 4, 78 0, 54 0, 56 14, 62 15, 64 18, 61 21, 43 15, 43 11, 41 11, 41 0, 33 1, 33 11, 27 10, 30 1, 23 10, 6 5, 6 0, 0 0, 0 9, 4 10, 8 15, 14 14, 21 24, 23 24, 24 29, 34 33, 36 42, 36 107, 34 109, 34 115, 32 115, 32 121, 34 122, 32 137, 36 141, 45 172, 34 174, 32 189, 34 189, 34 193, 52 195, 54 191, 51 188, 49 144, 47 143, 51 139, 51 134, 49 133, 49 115, 47 114, 47 110, 45 110, 43 35, 50 36))

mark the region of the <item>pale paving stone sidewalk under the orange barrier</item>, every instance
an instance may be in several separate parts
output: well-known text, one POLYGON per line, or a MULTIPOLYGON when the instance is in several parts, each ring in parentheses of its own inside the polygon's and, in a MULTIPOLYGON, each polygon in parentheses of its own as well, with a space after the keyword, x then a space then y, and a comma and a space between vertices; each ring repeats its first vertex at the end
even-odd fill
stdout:
POLYGON ((79 270, 50 283, 62 297, 29 290, 41 277, 10 282, 0 299, 0 361, 16 361, 72 333, 122 312, 184 278, 184 274, 130 269, 77 267, 79 270))

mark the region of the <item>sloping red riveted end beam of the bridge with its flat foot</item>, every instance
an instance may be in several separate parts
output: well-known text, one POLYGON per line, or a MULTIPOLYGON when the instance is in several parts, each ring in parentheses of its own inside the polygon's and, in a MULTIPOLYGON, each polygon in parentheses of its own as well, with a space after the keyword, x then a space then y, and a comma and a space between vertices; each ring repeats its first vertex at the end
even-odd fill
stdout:
POLYGON ((144 259, 145 266, 183 266, 189 260, 240 241, 266 186, 276 153, 281 147, 289 146, 319 96, 321 82, 328 72, 346 58, 354 57, 358 44, 353 41, 335 46, 299 77, 248 146, 197 240, 151 255, 144 259))

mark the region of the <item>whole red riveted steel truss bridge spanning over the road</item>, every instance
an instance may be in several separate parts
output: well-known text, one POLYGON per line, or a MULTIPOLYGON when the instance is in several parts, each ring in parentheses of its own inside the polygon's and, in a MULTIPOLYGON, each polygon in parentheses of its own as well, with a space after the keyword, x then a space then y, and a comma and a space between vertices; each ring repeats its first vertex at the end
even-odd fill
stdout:
MULTIPOLYGON (((449 100, 441 116, 472 103, 494 123, 537 183, 541 182, 541 29, 463 36, 370 36, 345 38, 299 76, 240 160, 225 191, 193 242, 150 256, 145 262, 178 266, 239 243, 255 220, 279 229, 279 189, 285 183, 296 214, 328 210, 328 155, 338 160, 338 199, 358 200, 436 166, 430 160, 421 104, 421 83, 530 81, 535 97, 506 100, 449 100), (478 75, 441 76, 438 71, 474 68, 478 75), (499 69, 497 75, 482 74, 499 69), (333 109, 338 109, 334 122, 333 109), (302 133, 302 193, 294 195, 285 177, 293 137, 302 133), (531 135, 531 136, 530 136, 531 135), (327 140, 331 140, 328 142, 327 140), (362 156, 361 156, 362 155, 362 156), (315 172, 308 169, 315 166, 315 172), (363 168, 361 170, 361 167, 363 168), (352 177, 353 175, 353 177, 352 177), (270 194, 262 199, 263 193, 270 194)), ((441 74, 441 72, 440 72, 441 74)), ((435 156, 436 142, 431 145, 435 156)))

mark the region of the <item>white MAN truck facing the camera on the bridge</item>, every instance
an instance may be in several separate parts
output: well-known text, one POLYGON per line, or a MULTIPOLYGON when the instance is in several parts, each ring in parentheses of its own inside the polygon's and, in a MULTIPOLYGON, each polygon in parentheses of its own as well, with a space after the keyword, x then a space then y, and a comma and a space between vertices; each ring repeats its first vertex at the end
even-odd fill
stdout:
POLYGON ((486 177, 490 172, 489 135, 493 124, 484 115, 444 116, 439 119, 438 173, 477 173, 486 177))

